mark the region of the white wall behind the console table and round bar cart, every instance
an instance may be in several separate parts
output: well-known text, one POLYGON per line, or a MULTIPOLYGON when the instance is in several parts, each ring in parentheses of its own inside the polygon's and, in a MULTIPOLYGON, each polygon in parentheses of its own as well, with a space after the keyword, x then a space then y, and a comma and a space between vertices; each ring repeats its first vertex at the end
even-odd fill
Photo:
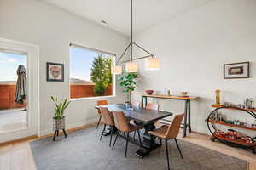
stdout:
MULTIPOLYGON (((138 34, 136 41, 159 57, 161 67, 145 71, 140 62, 137 91, 167 88, 172 94, 187 90, 200 96, 192 102, 192 130, 207 133, 205 118, 212 110, 216 89, 222 90, 224 101, 241 103, 246 97, 256 97, 255 16, 254 0, 217 0, 138 34), (243 61, 251 62, 251 78, 224 80, 223 65, 243 61)), ((154 102, 163 110, 183 112, 181 101, 154 102)), ((240 115, 241 121, 252 120, 240 115)))

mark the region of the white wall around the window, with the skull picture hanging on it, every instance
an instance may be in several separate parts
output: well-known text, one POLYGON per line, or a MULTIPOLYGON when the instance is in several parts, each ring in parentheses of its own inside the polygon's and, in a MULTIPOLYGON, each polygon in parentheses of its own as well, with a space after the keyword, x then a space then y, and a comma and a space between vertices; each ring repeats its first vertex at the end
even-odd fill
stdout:
MULTIPOLYGON (((107 28, 83 20, 60 8, 35 0, 0 1, 0 37, 40 46, 40 127, 41 134, 52 130, 55 106, 50 95, 65 98, 69 95, 69 43, 121 54, 126 37, 107 28), (65 82, 46 82, 46 62, 65 64, 65 82)), ((110 102, 123 102, 118 89, 110 102)), ((67 109, 67 128, 96 122, 96 99, 73 101, 67 109)))

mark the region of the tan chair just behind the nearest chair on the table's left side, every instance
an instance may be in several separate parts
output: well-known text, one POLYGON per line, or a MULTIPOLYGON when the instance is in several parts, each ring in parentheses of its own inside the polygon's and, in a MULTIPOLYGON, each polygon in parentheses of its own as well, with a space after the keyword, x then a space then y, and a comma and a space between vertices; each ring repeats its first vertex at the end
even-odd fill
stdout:
POLYGON ((114 128, 113 115, 110 113, 108 108, 101 107, 100 111, 102 114, 102 122, 104 123, 100 140, 102 140, 103 133, 105 132, 106 126, 108 125, 110 127, 110 141, 109 141, 109 147, 110 147, 112 142, 113 128, 114 128))

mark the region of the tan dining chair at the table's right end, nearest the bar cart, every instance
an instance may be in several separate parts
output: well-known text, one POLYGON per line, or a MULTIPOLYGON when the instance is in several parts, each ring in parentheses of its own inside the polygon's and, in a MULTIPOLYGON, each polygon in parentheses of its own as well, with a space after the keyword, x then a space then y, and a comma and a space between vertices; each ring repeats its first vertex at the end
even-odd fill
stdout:
MULTIPOLYGON (((148 134, 153 135, 155 137, 160 138, 160 143, 162 143, 162 139, 165 140, 166 143, 166 158, 167 158, 167 164, 168 164, 168 170, 170 170, 170 164, 169 164, 169 153, 168 153, 168 144, 167 141, 169 139, 174 139, 175 143, 177 144, 177 134, 180 129, 180 125, 183 121, 184 114, 180 114, 174 117, 172 124, 170 125, 164 125, 160 128, 155 129, 154 131, 149 131, 148 134)), ((177 144, 177 149, 179 151, 180 156, 183 159, 183 154, 179 148, 179 145, 177 144)))

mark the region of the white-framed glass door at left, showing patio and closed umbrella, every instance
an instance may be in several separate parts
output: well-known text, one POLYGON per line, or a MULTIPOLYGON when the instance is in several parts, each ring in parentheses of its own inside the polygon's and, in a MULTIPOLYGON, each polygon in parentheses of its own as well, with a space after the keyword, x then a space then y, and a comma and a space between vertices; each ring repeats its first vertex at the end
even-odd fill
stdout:
POLYGON ((0 143, 38 135, 38 46, 0 38, 0 143))

